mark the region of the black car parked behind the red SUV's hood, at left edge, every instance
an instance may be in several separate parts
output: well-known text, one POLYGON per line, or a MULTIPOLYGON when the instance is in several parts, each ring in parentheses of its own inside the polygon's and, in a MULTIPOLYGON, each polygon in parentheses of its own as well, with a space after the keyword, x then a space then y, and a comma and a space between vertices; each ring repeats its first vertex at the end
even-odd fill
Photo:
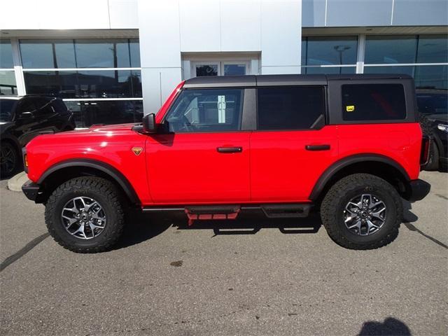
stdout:
POLYGON ((71 112, 61 99, 28 95, 0 96, 0 174, 22 168, 22 146, 39 134, 74 130, 71 112))

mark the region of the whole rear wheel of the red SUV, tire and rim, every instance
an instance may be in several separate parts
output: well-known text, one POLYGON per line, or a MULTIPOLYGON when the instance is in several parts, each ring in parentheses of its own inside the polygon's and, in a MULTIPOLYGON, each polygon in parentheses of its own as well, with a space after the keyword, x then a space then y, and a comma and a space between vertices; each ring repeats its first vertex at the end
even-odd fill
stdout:
POLYGON ((353 174, 337 181, 323 198, 321 219, 330 238, 356 250, 379 248, 398 235, 402 201, 384 179, 353 174))

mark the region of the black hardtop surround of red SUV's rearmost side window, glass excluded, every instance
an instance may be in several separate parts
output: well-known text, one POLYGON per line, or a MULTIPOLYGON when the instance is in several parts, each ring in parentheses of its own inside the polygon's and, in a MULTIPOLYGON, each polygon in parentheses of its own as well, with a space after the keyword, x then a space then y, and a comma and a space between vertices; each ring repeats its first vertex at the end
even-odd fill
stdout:
POLYGON ((417 123, 419 113, 416 107, 414 80, 405 79, 360 79, 328 80, 328 124, 329 125, 368 125, 417 123), (342 85, 400 84, 405 94, 406 118, 388 120, 344 120, 342 111, 342 85))

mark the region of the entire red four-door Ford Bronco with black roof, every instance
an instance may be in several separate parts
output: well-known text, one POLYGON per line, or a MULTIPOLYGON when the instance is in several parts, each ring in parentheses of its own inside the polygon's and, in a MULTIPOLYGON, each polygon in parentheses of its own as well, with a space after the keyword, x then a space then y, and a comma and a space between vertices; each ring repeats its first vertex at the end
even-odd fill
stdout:
POLYGON ((76 252, 113 246, 130 205, 189 224, 316 209, 337 244, 378 248, 398 235, 402 198, 430 190, 416 111, 405 75, 192 78, 141 124, 36 137, 22 189, 76 252))

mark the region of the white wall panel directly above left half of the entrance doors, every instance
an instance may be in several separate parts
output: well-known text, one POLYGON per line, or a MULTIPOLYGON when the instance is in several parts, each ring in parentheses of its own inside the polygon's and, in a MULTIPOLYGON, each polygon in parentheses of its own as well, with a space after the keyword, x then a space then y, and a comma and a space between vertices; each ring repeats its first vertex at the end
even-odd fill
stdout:
POLYGON ((181 51, 219 51, 221 41, 220 1, 180 1, 181 51))

